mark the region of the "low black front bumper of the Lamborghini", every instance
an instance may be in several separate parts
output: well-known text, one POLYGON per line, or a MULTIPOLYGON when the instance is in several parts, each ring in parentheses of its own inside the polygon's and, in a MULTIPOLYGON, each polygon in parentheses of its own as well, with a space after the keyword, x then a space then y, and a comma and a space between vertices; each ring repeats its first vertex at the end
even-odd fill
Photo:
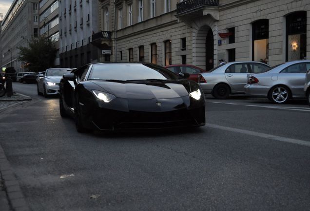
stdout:
MULTIPOLYGON (((99 106, 81 109, 85 113, 85 127, 99 130, 157 129, 205 125, 204 100, 187 104, 176 99, 116 99, 115 106, 99 106), (161 102, 158 106, 156 103, 161 102), (190 106, 188 106, 190 105, 190 106)), ((110 103, 109 103, 110 104, 110 103)), ((112 105, 112 104, 111 104, 112 105)), ((83 105, 84 106, 84 105, 83 105)))

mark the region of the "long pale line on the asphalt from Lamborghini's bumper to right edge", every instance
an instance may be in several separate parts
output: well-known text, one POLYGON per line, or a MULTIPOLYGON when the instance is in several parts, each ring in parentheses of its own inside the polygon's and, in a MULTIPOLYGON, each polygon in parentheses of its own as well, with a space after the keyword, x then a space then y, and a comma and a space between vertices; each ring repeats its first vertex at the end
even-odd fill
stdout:
POLYGON ((246 134, 246 135, 250 135, 250 136, 257 136, 257 137, 267 138, 267 139, 271 139, 271 140, 275 140, 275 141, 287 142, 287 143, 291 143, 291 144, 297 144, 297 145, 310 147, 309 141, 286 138, 286 137, 271 135, 271 134, 267 134, 267 133, 254 132, 251 130, 244 130, 244 129, 238 129, 238 128, 233 128, 233 127, 219 126, 219 125, 214 125, 214 124, 210 124, 210 123, 206 123, 206 126, 212 127, 215 129, 227 130, 227 131, 242 133, 242 134, 246 134))

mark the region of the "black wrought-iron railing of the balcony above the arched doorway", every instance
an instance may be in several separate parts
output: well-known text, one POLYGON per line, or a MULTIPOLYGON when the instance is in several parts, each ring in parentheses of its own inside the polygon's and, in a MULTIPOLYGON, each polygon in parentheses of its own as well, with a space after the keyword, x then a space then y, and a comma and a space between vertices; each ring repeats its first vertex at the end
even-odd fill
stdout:
POLYGON ((218 0, 185 0, 176 4, 176 13, 179 14, 201 6, 218 6, 218 0))

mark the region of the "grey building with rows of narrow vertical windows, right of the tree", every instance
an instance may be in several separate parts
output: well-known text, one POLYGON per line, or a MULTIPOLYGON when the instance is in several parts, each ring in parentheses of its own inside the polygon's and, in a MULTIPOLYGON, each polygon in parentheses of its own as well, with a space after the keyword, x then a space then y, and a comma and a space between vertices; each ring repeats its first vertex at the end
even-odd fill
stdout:
POLYGON ((98 31, 97 0, 59 0, 59 51, 61 67, 97 62, 98 49, 91 44, 98 31))

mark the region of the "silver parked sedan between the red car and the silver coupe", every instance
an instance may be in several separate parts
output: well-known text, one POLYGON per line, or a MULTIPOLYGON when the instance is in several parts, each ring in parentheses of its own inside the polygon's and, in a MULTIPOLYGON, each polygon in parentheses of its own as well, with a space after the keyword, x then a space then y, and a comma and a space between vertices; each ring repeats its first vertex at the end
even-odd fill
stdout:
POLYGON ((249 73, 266 72, 271 66, 260 62, 231 62, 221 64, 206 73, 201 73, 200 81, 205 94, 212 94, 217 99, 227 99, 230 94, 244 93, 249 73))

